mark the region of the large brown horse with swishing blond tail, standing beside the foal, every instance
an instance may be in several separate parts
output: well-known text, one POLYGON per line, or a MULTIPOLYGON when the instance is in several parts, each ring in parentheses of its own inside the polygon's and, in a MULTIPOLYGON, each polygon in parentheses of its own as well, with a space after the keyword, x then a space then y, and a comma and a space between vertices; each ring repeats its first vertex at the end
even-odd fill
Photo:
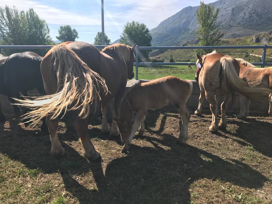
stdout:
POLYGON ((118 106, 127 79, 134 76, 134 49, 135 45, 129 47, 119 43, 99 52, 88 43, 65 42, 54 46, 44 56, 41 73, 48 96, 19 102, 33 108, 25 115, 32 125, 46 116, 52 155, 65 153, 57 136, 58 116, 68 110, 76 110, 74 126, 85 156, 90 160, 100 157, 88 135, 90 105, 97 105, 99 99, 106 103, 115 97, 115 106, 118 106))

